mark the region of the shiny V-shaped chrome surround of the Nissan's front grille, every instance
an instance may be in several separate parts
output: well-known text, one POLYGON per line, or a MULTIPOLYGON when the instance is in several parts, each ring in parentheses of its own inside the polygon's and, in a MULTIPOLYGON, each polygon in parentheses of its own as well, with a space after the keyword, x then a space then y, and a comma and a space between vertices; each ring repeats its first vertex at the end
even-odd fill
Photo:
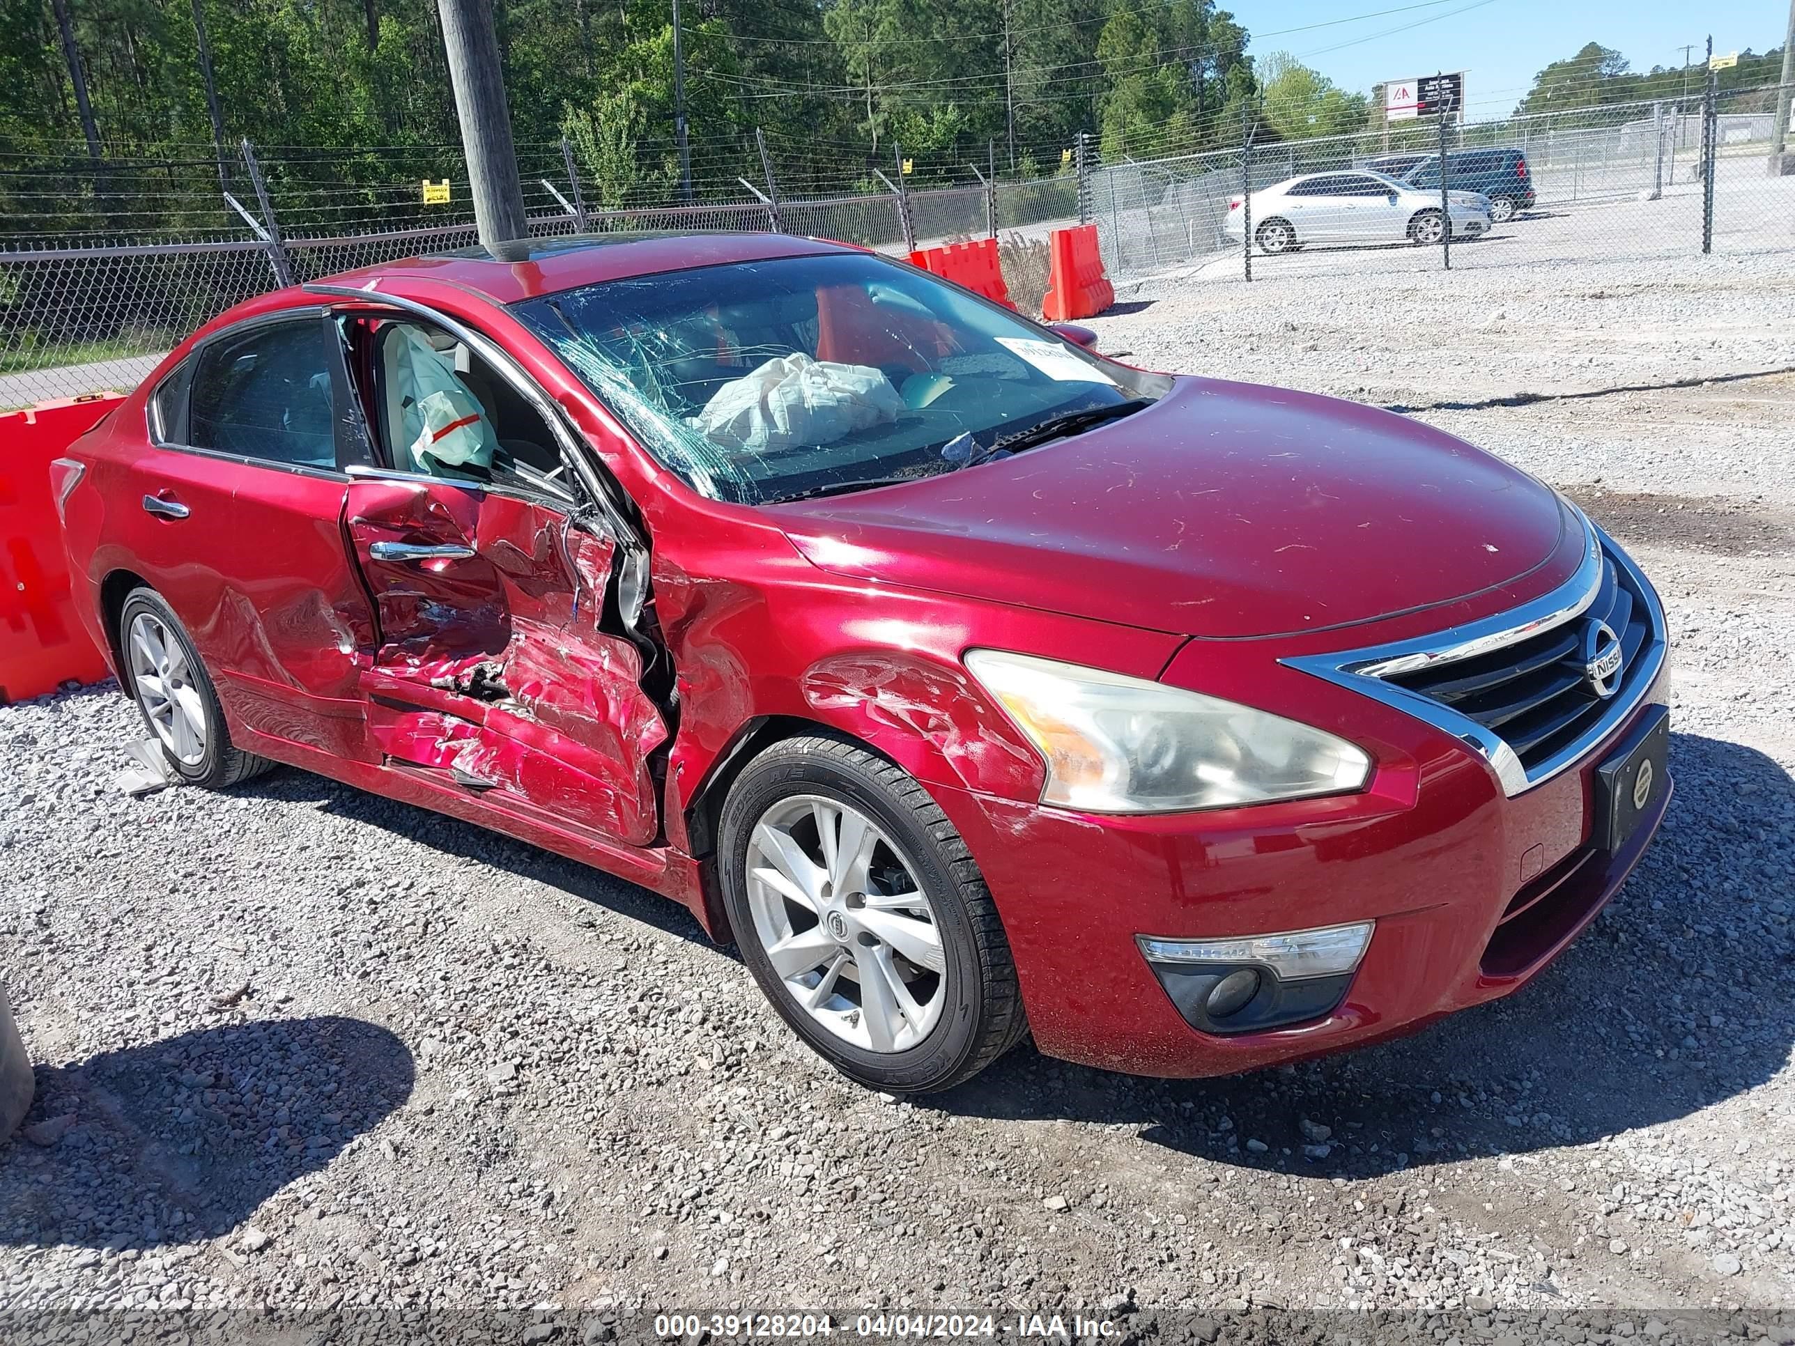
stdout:
POLYGON ((1668 657, 1664 605, 1659 601, 1651 581, 1633 564, 1633 558, 1616 546, 1614 538, 1596 528, 1581 510, 1569 503, 1565 508, 1581 524, 1587 547, 1576 574, 1553 592, 1542 594, 1510 612, 1465 623, 1463 626, 1454 626, 1418 641, 1393 641, 1389 644, 1341 650, 1327 655, 1296 655, 1280 662, 1332 682, 1337 687, 1370 696, 1450 734, 1490 765, 1490 770, 1495 772, 1497 781, 1502 784, 1502 793, 1510 799, 1551 781, 1560 772, 1581 761, 1590 748, 1612 734, 1651 696, 1651 689, 1668 657), (1501 734, 1484 729, 1470 716, 1459 714, 1431 696, 1384 680, 1393 673, 1413 673, 1418 668, 1474 659, 1574 621, 1596 601, 1596 594, 1601 590, 1603 551, 1614 558, 1617 567, 1626 571, 1628 580, 1632 580, 1642 596, 1651 635, 1635 655, 1632 669, 1628 669, 1628 689, 1605 705, 1601 718, 1594 725, 1531 772, 1522 766, 1520 757, 1515 756, 1515 750, 1508 747, 1501 734))

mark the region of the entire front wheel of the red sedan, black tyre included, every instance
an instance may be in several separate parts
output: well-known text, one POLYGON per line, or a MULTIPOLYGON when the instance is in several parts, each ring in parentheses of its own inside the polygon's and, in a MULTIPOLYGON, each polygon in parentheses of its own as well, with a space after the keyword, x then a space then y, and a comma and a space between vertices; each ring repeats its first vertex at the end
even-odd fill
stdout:
POLYGON ((849 1079, 948 1089, 1021 1039, 1016 966, 984 878, 889 761, 827 738, 766 748, 729 791, 718 865, 754 980, 849 1079))

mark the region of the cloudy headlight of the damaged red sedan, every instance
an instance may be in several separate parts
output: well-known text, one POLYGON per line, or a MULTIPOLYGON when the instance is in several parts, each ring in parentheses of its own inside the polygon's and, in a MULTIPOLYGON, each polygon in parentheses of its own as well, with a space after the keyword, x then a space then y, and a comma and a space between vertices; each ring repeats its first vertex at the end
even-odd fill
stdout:
POLYGON ((1043 804, 1174 813, 1357 790, 1352 743, 1158 682, 1052 659, 969 650, 966 668, 1046 759, 1043 804))

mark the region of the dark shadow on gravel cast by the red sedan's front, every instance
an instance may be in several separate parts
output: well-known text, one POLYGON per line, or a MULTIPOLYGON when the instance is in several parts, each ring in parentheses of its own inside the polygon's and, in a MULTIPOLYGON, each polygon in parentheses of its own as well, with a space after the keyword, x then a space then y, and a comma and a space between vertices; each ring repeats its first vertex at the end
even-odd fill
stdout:
POLYGON ((1021 1048, 917 1106, 1122 1123, 1201 1159, 1370 1177, 1596 1141, 1752 1089, 1795 1043, 1795 781, 1694 734, 1673 734, 1671 770, 1669 817, 1633 878, 1506 1000, 1397 1043, 1212 1080, 1140 1080, 1021 1048), (1318 1140, 1327 1154, 1305 1154, 1318 1140))

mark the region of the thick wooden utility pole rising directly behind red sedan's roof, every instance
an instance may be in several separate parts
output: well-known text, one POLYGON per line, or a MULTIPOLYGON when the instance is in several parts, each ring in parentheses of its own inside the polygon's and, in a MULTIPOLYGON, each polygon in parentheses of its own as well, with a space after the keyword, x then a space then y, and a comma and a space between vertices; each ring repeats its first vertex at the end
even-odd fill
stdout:
POLYGON ((492 27, 492 2, 436 0, 436 13, 443 23, 449 83, 454 84, 454 108, 461 120, 474 224, 479 240, 486 248, 495 248, 526 237, 530 223, 524 217, 524 185, 517 178, 512 113, 504 104, 504 72, 499 66, 499 38, 492 27))

